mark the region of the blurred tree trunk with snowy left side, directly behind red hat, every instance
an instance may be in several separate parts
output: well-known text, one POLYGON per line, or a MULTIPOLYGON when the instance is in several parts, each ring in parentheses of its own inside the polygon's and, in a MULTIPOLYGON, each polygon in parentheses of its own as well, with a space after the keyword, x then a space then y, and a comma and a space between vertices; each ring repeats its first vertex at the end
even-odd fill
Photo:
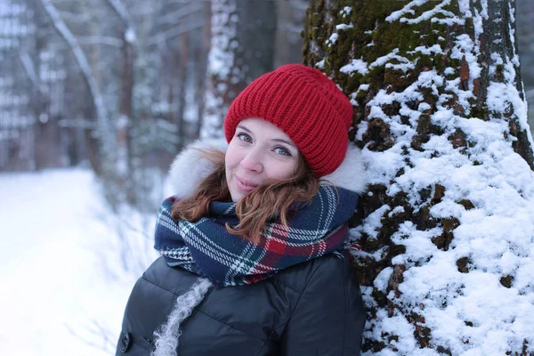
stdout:
POLYGON ((201 136, 221 137, 231 101, 252 80, 272 70, 276 9, 274 2, 263 0, 211 4, 212 44, 201 136))

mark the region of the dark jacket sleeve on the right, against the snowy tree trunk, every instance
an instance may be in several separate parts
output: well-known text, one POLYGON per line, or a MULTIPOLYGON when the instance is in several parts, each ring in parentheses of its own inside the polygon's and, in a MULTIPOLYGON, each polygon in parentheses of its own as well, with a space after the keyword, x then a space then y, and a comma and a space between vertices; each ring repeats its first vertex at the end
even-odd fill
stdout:
POLYGON ((360 355, 366 316, 349 257, 322 260, 279 337, 279 356, 360 355))

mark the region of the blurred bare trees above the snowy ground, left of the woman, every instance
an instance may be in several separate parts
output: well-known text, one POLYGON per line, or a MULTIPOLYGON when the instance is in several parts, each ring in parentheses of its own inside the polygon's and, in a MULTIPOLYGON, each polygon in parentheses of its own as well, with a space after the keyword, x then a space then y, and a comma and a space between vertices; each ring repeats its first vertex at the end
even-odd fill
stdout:
POLYGON ((86 166, 111 204, 153 210, 139 188, 222 134, 255 77, 302 61, 307 3, 0 0, 0 172, 86 166))

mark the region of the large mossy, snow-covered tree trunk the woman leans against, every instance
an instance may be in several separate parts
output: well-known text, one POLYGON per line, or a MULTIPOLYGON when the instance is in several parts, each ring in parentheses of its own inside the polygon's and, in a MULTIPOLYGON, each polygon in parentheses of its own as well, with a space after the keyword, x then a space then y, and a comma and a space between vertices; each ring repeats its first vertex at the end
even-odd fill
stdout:
POLYGON ((364 354, 534 353, 534 168, 514 0, 315 0, 304 62, 352 100, 364 354))

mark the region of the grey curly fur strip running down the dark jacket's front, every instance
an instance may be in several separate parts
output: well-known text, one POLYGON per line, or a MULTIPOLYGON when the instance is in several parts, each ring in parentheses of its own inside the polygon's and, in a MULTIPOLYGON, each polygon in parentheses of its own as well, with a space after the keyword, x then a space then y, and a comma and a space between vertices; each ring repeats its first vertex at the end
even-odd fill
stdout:
POLYGON ((173 312, 169 314, 166 324, 161 326, 161 331, 154 331, 156 348, 150 356, 178 356, 178 339, 182 335, 180 326, 213 286, 209 279, 198 278, 190 290, 176 298, 173 312))

